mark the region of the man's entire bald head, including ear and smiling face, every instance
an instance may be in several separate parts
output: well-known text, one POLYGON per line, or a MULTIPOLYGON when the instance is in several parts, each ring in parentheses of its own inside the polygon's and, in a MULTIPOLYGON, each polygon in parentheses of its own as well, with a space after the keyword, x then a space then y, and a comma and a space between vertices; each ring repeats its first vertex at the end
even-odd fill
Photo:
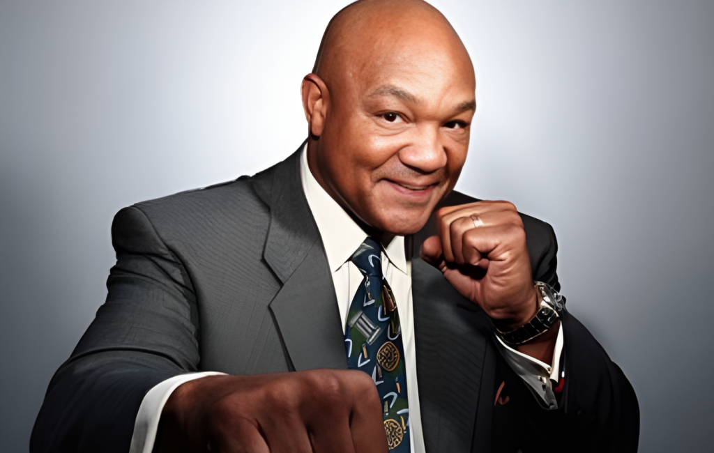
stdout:
POLYGON ((475 89, 466 48, 433 6, 347 6, 303 79, 311 173, 370 234, 415 233, 461 173, 475 89))

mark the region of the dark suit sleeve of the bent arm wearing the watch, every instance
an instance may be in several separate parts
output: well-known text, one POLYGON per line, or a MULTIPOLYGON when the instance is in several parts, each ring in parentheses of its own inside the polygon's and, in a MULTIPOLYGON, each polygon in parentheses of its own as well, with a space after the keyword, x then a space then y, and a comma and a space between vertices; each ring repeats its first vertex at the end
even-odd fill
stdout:
MULTIPOLYGON (((553 228, 523 217, 533 278, 560 290, 553 228)), ((493 407, 494 452, 636 452, 640 415, 632 385, 573 315, 561 319, 565 379, 557 410, 541 407, 498 357, 496 386, 503 382, 503 390, 493 407), (512 404, 501 404, 507 397, 512 404)))

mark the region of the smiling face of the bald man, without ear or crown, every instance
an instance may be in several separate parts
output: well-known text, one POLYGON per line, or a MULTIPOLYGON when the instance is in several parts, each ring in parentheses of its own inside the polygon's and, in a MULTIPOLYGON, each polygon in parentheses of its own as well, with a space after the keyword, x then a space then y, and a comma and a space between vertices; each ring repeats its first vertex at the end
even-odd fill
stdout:
POLYGON ((365 53, 364 63, 346 62, 348 71, 325 81, 329 99, 311 169, 371 228, 416 233, 466 161, 473 66, 460 41, 428 34, 386 39, 365 53))

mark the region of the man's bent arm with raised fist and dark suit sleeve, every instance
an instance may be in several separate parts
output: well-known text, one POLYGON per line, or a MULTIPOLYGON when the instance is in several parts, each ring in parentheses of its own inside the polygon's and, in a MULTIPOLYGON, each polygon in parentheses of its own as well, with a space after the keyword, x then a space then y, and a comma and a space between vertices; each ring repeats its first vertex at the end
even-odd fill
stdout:
MULTIPOLYGON (((439 268, 458 292, 481 306, 504 330, 533 317, 534 279, 559 290, 552 229, 519 216, 511 203, 451 206, 439 212, 438 222, 440 235, 425 241, 422 258, 439 268)), ((501 393, 501 401, 510 396, 515 404, 497 404, 496 399, 493 439, 501 444, 495 446, 511 451, 506 447, 513 442, 513 451, 524 452, 636 451, 639 413, 632 386, 575 317, 565 312, 560 323, 518 347, 519 352, 550 363, 560 328, 564 357, 559 364, 564 364, 566 377, 563 387, 555 390, 557 410, 539 404, 521 373, 516 373, 509 354, 499 358, 501 376, 497 375, 496 385, 504 382, 502 388, 507 391, 501 393)))

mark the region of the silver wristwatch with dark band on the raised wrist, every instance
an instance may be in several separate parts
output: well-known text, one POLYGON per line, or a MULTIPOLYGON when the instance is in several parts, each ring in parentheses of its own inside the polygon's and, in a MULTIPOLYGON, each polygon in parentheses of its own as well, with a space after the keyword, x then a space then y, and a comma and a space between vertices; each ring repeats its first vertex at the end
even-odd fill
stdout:
POLYGON ((540 303, 540 310, 535 313, 533 319, 510 332, 503 332, 494 325, 496 335, 509 346, 523 345, 523 343, 543 335, 550 327, 553 327, 555 322, 558 322, 560 315, 565 312, 565 297, 558 294, 550 285, 543 282, 533 283, 540 303))

